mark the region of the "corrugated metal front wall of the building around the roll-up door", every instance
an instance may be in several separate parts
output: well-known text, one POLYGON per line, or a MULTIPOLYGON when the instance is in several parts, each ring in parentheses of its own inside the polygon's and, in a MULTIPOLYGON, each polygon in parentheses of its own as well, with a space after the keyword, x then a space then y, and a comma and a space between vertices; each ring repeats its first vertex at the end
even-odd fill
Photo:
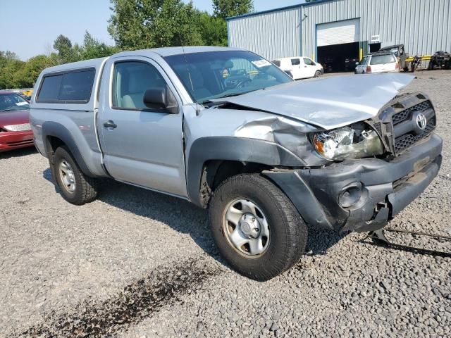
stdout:
POLYGON ((316 25, 360 18, 360 41, 380 35, 410 55, 451 51, 450 0, 335 0, 302 6, 302 54, 316 56, 316 25), (305 16, 307 15, 307 17, 305 16))

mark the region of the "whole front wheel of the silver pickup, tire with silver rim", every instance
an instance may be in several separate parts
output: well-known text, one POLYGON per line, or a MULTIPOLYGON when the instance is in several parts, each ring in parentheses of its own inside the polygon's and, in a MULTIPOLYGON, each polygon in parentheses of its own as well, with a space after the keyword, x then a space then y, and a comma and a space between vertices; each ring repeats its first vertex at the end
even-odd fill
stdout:
MULTIPOLYGON (((275 184, 259 174, 241 174, 228 178, 215 190, 209 207, 210 228, 216 246, 231 267, 242 275, 259 281, 270 280, 291 268, 305 251, 307 225, 290 199, 275 184), (257 233, 261 234, 262 247, 265 248, 257 255, 252 255, 249 244, 243 244, 238 249, 231 239, 231 233, 235 230, 240 230, 239 234, 244 234, 246 230, 242 226, 242 220, 248 213, 241 216, 235 229, 233 223, 226 221, 227 211, 240 211, 241 203, 257 206, 257 217, 253 219, 259 220, 261 230, 257 233), (266 220, 268 225, 266 242, 263 236, 263 220, 266 220), (246 245, 249 248, 248 253, 243 252, 246 245)), ((246 210, 249 209, 242 204, 240 212, 246 210)))

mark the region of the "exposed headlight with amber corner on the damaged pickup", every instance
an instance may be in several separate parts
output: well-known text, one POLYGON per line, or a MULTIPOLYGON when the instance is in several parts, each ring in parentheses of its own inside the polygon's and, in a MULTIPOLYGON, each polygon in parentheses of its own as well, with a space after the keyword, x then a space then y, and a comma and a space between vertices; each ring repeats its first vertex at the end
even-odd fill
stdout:
POLYGON ((312 143, 319 156, 328 160, 345 160, 383 154, 383 144, 378 134, 367 125, 343 127, 328 132, 317 132, 312 143))

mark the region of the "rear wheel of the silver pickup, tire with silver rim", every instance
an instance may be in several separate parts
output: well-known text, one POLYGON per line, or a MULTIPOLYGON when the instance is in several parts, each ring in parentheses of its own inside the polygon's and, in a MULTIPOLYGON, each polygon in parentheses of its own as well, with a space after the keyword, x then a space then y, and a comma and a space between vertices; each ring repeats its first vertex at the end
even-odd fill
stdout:
POLYGON ((85 175, 80 170, 80 167, 66 147, 60 146, 56 149, 54 163, 51 165, 53 166, 51 172, 63 199, 77 206, 96 199, 97 180, 85 175), (63 173, 63 170, 66 170, 66 174, 63 173), (69 181, 73 181, 73 186, 72 184, 69 185, 69 181))

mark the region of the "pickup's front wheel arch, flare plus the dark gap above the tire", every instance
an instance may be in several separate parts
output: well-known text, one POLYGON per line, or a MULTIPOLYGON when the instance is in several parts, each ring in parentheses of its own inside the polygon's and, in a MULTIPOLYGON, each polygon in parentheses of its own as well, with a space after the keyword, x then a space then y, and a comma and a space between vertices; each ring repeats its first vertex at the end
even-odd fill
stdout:
POLYGON ((206 208, 211 192, 226 178, 260 173, 275 166, 302 167, 305 163, 279 144, 242 137, 203 137, 187 154, 187 191, 190 201, 206 208))

